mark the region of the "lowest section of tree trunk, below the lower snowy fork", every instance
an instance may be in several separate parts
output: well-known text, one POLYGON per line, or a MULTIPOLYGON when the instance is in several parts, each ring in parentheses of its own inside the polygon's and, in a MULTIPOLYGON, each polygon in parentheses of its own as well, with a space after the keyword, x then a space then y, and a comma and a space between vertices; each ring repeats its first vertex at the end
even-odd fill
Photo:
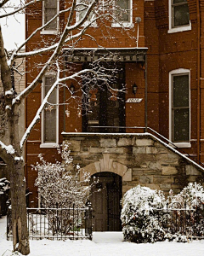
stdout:
POLYGON ((30 253, 26 218, 26 178, 23 160, 14 160, 8 164, 11 172, 11 212, 14 251, 23 255, 30 253))

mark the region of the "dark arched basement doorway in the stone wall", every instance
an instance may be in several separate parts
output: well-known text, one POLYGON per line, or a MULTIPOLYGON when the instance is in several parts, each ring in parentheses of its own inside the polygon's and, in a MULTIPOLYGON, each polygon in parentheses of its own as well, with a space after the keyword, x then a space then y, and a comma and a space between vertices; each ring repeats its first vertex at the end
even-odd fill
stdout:
POLYGON ((94 231, 121 231, 122 177, 113 172, 98 172, 91 195, 94 231))

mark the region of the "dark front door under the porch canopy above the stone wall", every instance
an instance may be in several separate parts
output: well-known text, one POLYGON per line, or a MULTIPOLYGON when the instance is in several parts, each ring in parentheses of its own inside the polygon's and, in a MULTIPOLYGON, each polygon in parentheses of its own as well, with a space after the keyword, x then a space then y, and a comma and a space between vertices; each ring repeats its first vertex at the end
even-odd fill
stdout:
POLYGON ((82 131, 124 131, 119 128, 125 126, 124 68, 124 65, 117 64, 118 72, 113 74, 114 78, 108 82, 109 86, 100 80, 95 81, 94 84, 91 81, 89 83, 84 81, 86 94, 84 94, 82 105, 82 131))

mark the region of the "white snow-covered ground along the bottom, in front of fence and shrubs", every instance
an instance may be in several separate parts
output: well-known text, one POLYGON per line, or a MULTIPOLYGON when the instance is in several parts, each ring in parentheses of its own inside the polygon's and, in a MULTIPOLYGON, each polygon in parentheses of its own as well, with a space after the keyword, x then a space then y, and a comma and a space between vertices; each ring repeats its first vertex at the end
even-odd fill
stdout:
MULTIPOLYGON (((0 218, 0 256, 10 256, 12 241, 6 240, 6 218, 0 218)), ((30 256, 200 256, 204 241, 135 244, 122 241, 121 232, 95 232, 93 241, 31 241, 30 256)))

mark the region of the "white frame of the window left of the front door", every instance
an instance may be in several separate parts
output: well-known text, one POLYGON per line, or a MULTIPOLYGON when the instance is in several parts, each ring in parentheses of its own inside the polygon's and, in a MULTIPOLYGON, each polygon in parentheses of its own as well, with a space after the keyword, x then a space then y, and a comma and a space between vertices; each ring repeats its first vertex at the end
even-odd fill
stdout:
MULTIPOLYGON (((56 75, 55 72, 48 72, 45 74, 46 76, 56 75)), ((45 77, 42 79, 42 89, 41 89, 41 101, 43 102, 45 96, 44 84, 45 84, 45 77)), ((59 88, 56 87, 56 141, 55 143, 44 143, 44 109, 41 113, 41 144, 40 148, 59 148, 59 88)))

